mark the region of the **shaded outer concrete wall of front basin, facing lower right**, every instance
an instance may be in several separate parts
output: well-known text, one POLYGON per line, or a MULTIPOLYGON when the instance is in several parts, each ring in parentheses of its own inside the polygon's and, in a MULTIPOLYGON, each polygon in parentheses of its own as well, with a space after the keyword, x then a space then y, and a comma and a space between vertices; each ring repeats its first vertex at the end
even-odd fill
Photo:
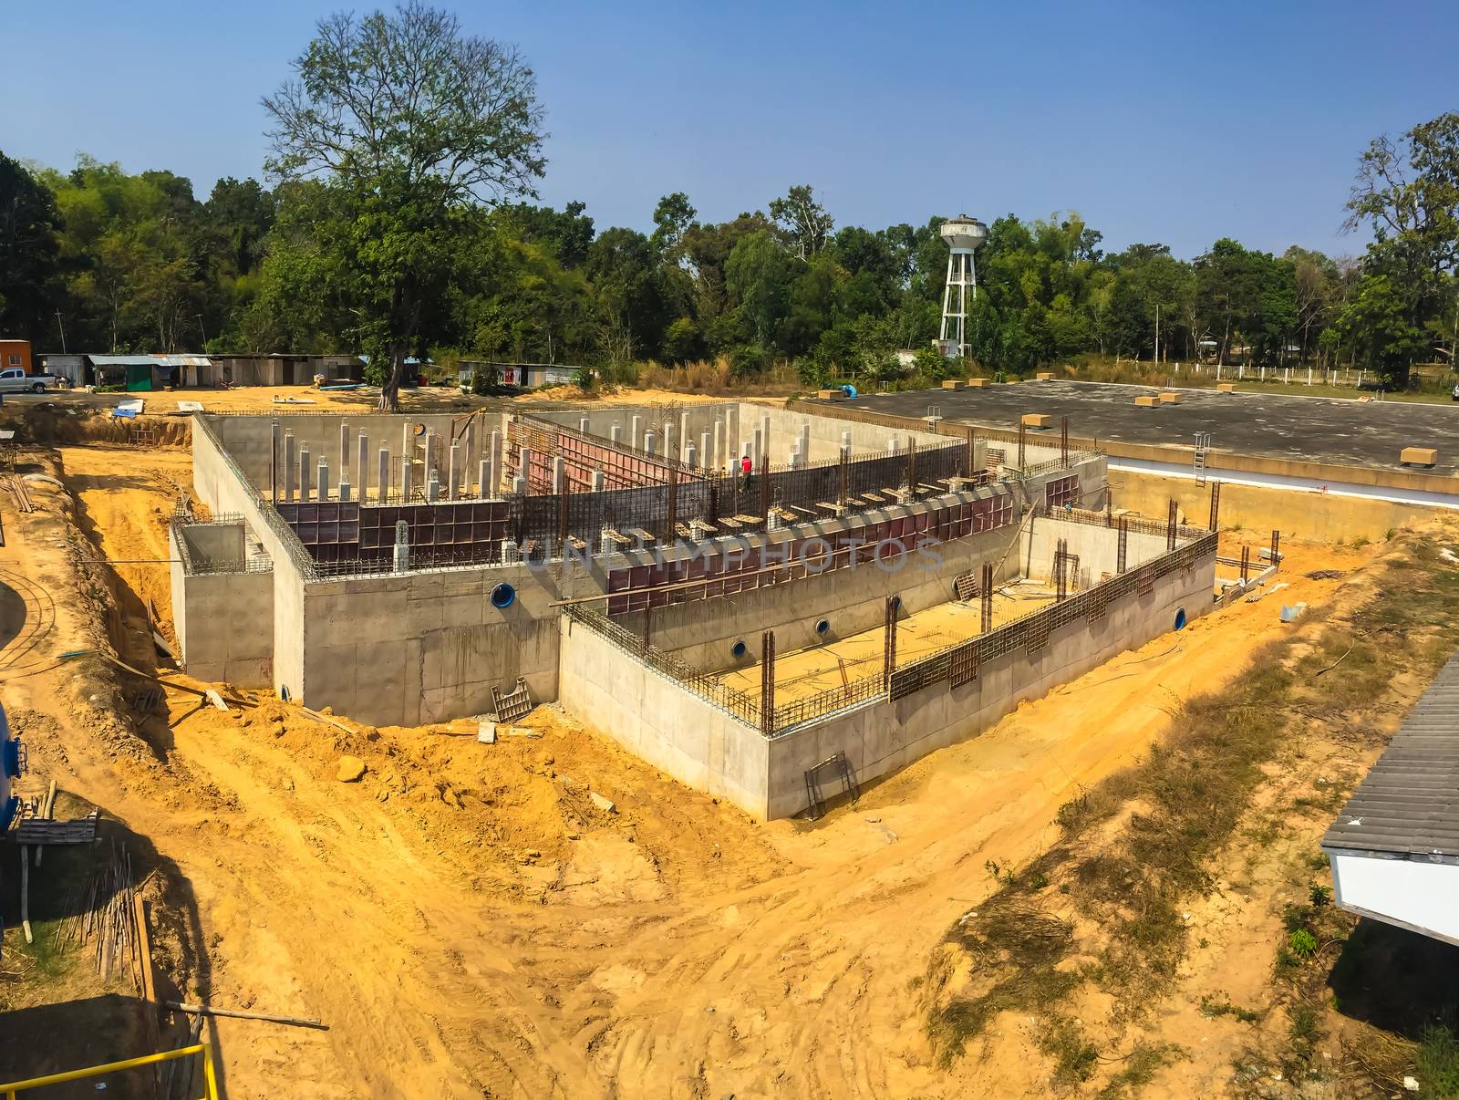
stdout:
MULTIPOLYGON (((1094 528, 1091 528, 1094 530, 1094 528)), ((839 716, 820 719, 770 740, 767 816, 791 817, 805 808, 805 772, 845 751, 858 782, 905 767, 928 753, 963 741, 994 725, 1026 699, 1037 699, 1116 654, 1144 645, 1173 629, 1185 608, 1195 619, 1211 608, 1215 557, 1189 573, 1156 581, 1150 595, 1131 594, 1112 603, 1104 619, 1080 619, 1049 635, 1030 656, 1021 648, 989 661, 978 678, 956 690, 947 684, 906 699, 875 700, 839 716)), ((759 737, 746 727, 747 735, 759 737)))

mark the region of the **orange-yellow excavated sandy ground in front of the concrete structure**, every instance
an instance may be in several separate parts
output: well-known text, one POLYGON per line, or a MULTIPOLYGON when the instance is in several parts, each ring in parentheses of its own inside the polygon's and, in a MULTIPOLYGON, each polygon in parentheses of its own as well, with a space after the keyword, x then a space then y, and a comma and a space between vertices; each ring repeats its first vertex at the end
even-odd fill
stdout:
MULTIPOLYGON (((158 546, 172 455, 66 465, 108 550, 158 546)), ((0 570, 54 594, 51 646, 73 646, 88 605, 58 521, 18 524, 3 497, 0 512, 0 570)), ((1281 603, 1320 605, 1338 582, 1304 572, 1364 557, 1284 550, 1282 600, 1123 654, 814 827, 756 826, 552 709, 531 721, 540 738, 481 745, 177 696, 147 729, 156 759, 136 759, 64 702, 66 668, 6 675, 6 705, 35 715, 38 775, 144 837, 175 881, 184 992, 328 1023, 219 1021, 229 1096, 1036 1093, 1017 1037, 937 1069, 913 979, 989 893, 986 861, 1042 848, 1056 808, 1157 740, 1173 702, 1239 675, 1284 630, 1281 603), (336 781, 341 751, 363 782, 336 781)))

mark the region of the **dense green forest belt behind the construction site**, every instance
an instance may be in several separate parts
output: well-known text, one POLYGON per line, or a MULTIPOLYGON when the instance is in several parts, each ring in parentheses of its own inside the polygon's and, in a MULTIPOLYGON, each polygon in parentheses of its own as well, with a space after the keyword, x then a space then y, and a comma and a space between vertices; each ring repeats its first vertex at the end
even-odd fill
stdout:
MULTIPOLYGON (((531 111, 522 120, 531 139, 531 111)), ((531 147, 519 155, 540 174, 531 147)), ((270 168, 273 187, 229 178, 198 198, 168 171, 82 158, 61 172, 0 155, 0 334, 73 352, 372 350, 357 283, 372 263, 362 226, 376 214, 336 184, 270 168)), ((635 360, 725 357, 737 373, 794 363, 808 384, 890 376, 897 349, 919 349, 928 373, 963 366, 931 350, 947 268, 935 217, 837 226, 801 185, 725 222, 668 194, 649 232, 600 231, 582 203, 502 193, 515 201, 442 207, 452 216, 432 223, 430 282, 409 330, 397 325, 411 352, 608 376, 635 360)), ((1447 114, 1361 155, 1347 210, 1373 235, 1361 258, 1228 238, 1193 260, 1160 244, 1109 251, 1078 214, 1005 214, 978 254, 972 355, 1027 372, 1090 352, 1204 352, 1351 362, 1402 384, 1414 362, 1453 356, 1456 210, 1459 115, 1447 114)))

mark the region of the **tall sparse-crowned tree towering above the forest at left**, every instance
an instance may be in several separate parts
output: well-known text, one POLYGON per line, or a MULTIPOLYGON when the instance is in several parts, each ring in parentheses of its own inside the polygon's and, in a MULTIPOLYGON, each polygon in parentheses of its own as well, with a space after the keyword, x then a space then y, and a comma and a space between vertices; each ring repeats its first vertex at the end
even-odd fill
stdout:
POLYGON ((515 50, 414 1, 321 20, 293 69, 263 101, 268 168, 330 188, 322 229, 347 261, 359 341, 390 363, 381 407, 395 410, 423 308, 458 274, 458 238, 486 206, 534 194, 535 79, 515 50))

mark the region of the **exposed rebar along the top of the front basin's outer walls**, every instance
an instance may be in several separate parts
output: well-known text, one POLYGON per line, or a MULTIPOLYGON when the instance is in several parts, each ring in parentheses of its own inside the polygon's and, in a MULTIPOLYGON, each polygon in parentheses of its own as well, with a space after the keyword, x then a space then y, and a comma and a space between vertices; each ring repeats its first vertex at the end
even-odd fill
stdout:
MULTIPOLYGON (((1088 512, 1075 518, 1074 522, 1096 525, 1093 518, 1088 518, 1096 515, 1102 516, 1103 514, 1088 512)), ((1069 519, 1071 516, 1061 512, 1058 518, 1069 519)), ((1103 527, 1103 521, 1097 525, 1103 527)), ((1153 527, 1158 528, 1154 531, 1157 534, 1166 531, 1166 525, 1163 524, 1154 524, 1153 527)), ((947 684, 951 690, 976 678, 978 668, 985 662, 1020 648, 1030 656, 1037 654, 1048 645, 1049 638, 1059 627, 1080 619, 1097 621, 1107 614, 1110 604, 1115 601, 1131 594, 1148 595, 1154 589, 1156 581, 1161 576, 1169 576, 1179 570, 1189 572, 1202 559, 1215 556, 1215 531, 1204 531, 1201 528, 1180 530, 1193 535, 1185 546, 1177 546, 1174 550, 1166 551, 1129 572, 1113 576, 1109 581, 1102 581, 1056 604, 1030 611, 985 635, 944 646, 905 668, 891 668, 890 675, 887 671, 881 671, 818 694, 776 705, 773 721, 769 725, 760 721, 760 700, 728 687, 719 680, 718 673, 700 673, 694 670, 673 654, 646 643, 642 636, 632 633, 587 604, 568 604, 563 610, 573 623, 581 623, 604 636, 619 649, 643 661, 661 675, 677 681, 686 690, 693 692, 750 728, 769 737, 776 737, 804 722, 818 721, 871 700, 905 699, 916 692, 935 687, 940 683, 947 684)))

